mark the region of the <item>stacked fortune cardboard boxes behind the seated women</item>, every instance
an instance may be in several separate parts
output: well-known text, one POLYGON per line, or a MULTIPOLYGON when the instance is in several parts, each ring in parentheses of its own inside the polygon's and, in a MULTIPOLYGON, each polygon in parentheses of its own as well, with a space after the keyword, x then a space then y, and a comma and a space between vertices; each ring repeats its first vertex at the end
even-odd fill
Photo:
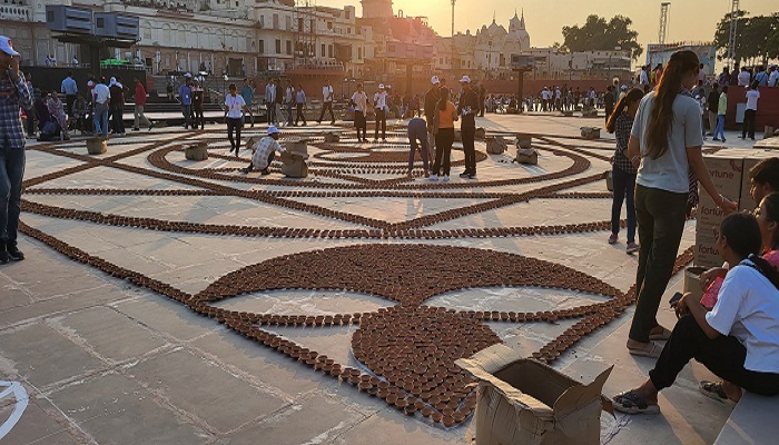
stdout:
MULTIPOLYGON (((755 200, 749 194, 751 187, 749 170, 761 159, 779 156, 779 151, 727 149, 706 156, 706 166, 717 191, 739 205, 739 210, 751 211, 755 200)), ((724 219, 724 212, 702 188, 697 210, 696 266, 718 267, 722 265, 714 240, 714 229, 724 219)))

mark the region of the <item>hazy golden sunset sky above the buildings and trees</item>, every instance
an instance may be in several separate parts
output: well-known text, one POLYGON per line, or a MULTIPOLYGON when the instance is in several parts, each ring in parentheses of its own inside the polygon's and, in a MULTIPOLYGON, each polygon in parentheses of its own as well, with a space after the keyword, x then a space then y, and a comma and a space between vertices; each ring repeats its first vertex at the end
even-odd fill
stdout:
MULTIPOLYGON (((357 13, 362 13, 358 0, 317 2, 337 7, 354 4, 357 7, 357 13)), ((711 40, 717 22, 730 11, 730 0, 671 1, 665 41, 711 40)), ((394 0, 394 10, 397 13, 402 9, 405 16, 426 16, 438 34, 450 36, 451 4, 451 0, 394 0)), ((642 47, 658 39, 660 1, 645 0, 456 0, 455 30, 464 32, 471 29, 471 32, 475 32, 482 24, 492 23, 493 11, 497 22, 507 28, 514 10, 521 13, 523 8, 533 47, 546 47, 555 41, 562 43, 562 27, 582 24, 591 13, 607 18, 615 14, 630 17, 633 20, 633 29, 639 32, 639 43, 642 47)), ((752 16, 769 14, 779 11, 779 1, 741 0, 741 9, 752 16)))

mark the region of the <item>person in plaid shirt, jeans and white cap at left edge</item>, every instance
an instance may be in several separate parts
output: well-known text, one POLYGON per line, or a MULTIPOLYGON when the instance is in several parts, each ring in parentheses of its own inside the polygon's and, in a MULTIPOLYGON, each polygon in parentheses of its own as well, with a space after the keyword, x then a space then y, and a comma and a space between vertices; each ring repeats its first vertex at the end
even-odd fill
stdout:
POLYGON ((32 91, 19 70, 19 52, 0 36, 0 263, 22 260, 17 247, 24 177, 24 130, 19 109, 32 108, 32 91))

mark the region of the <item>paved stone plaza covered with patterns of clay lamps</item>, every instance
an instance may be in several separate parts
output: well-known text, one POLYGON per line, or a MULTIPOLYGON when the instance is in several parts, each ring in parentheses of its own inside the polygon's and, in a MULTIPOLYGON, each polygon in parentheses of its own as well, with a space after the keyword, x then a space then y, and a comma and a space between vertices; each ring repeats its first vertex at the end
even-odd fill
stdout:
MULTIPOLYGON (((23 390, 0 398, 0 443, 470 443, 453 362, 499 342, 588 383, 614 365, 608 396, 641 383, 653 360, 624 347, 637 257, 624 231, 607 244, 613 138, 579 137, 602 119, 477 119, 539 136, 539 165, 477 141, 479 180, 455 150, 448 184, 418 162, 406 177, 398 123, 378 145, 283 129, 309 138, 306 179, 241 175, 249 152, 227 156, 221 126, 100 156, 29 145, 27 259, 0 267, 0 380, 23 390), (204 140, 210 159, 186 160, 204 140)), ((693 239, 690 221, 679 268, 693 239)), ((601 442, 712 443, 730 408, 698 393, 707 377, 686 368, 663 416, 603 413, 601 442)))

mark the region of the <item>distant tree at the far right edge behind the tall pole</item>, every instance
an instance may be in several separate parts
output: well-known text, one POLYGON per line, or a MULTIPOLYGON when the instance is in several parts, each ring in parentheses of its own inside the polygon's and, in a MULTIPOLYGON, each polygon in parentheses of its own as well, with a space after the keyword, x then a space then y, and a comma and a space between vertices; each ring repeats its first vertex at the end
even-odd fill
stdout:
MULTIPOLYGON (((747 11, 738 11, 736 61, 757 60, 766 63, 777 56, 779 40, 779 13, 771 16, 747 17, 747 11)), ((730 39, 730 13, 724 14, 714 32, 714 47, 719 50, 719 59, 728 56, 730 39)))

